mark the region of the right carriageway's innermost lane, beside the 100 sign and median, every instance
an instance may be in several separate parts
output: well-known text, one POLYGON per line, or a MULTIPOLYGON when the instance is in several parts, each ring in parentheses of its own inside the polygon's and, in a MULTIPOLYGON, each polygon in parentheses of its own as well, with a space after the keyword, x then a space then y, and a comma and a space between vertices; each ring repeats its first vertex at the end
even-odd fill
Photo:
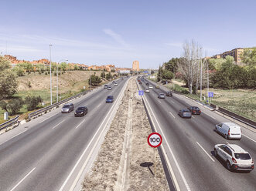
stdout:
MULTIPOLYGON (((147 97, 148 98, 148 97, 147 97)), ((162 128, 163 134, 166 136, 166 141, 169 142, 169 146, 172 148, 172 152, 179 163, 180 169, 183 172, 186 181, 189 183, 189 187, 192 190, 221 190, 226 189, 226 186, 219 186, 218 184, 208 183, 216 179, 216 182, 220 182, 219 176, 212 176, 205 169, 210 169, 213 166, 213 162, 207 159, 207 156, 198 148, 195 140, 189 135, 188 129, 180 126, 179 122, 172 119, 157 102, 148 100, 151 108, 154 110, 154 114, 162 128), (203 163, 198 159, 206 159, 207 163, 203 163), (209 180, 209 181, 207 181, 209 180), (206 189, 208 188, 209 189, 206 189)), ((163 142, 164 144, 164 142, 163 142)), ((176 175, 179 185, 182 185, 182 178, 179 174, 179 170, 175 163, 173 163, 172 156, 168 149, 166 149, 169 156, 169 161, 172 163, 172 168, 176 175)), ((215 169, 214 169, 215 171, 215 169)))

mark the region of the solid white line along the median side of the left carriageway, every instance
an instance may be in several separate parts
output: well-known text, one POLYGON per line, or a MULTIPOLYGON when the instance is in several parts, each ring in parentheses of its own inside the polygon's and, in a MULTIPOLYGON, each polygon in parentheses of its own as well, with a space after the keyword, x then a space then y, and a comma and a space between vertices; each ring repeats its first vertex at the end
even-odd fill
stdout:
MULTIPOLYGON (((128 83, 128 81, 126 81, 126 83, 128 83)), ((125 85, 124 85, 124 87, 125 87, 125 85)), ((125 90, 123 90, 123 92, 124 92, 124 91, 125 91, 125 90)), ((118 103, 118 100, 121 98, 121 94, 122 94, 122 93, 120 93, 119 96, 118 96, 117 103, 118 103)), ((114 106, 117 106, 117 103, 116 103, 115 105, 113 104, 113 106, 111 107, 111 109, 108 111, 108 114, 109 114, 110 112, 114 112, 114 109, 113 109, 113 108, 114 108, 114 106)), ((108 124, 108 122, 104 123, 104 121, 105 121, 105 120, 107 119, 107 117, 108 117, 108 114, 107 114, 107 116, 104 118, 104 120, 101 122, 101 126, 102 126, 103 124, 108 124)), ((108 118, 108 121, 109 121, 109 119, 110 119, 110 117, 108 118)), ((85 120, 85 119, 84 119, 84 120, 85 120)), ((100 131, 101 126, 97 129, 97 132, 100 131)), ((64 187, 66 186, 67 181, 70 179, 70 177, 72 176, 73 172, 74 172, 75 169, 77 168, 78 164, 80 163, 80 160, 84 157, 85 152, 87 152, 87 149, 90 147, 90 144, 93 142, 95 136, 97 135, 97 132, 95 132, 93 138, 90 139, 90 142, 89 142, 89 144, 87 145, 87 148, 84 149, 84 152, 82 153, 82 155, 80 156, 80 158, 77 160, 77 163, 75 164, 75 166, 73 166, 73 169, 71 170, 70 174, 67 176, 67 179, 65 180, 65 182, 63 183, 63 185, 60 187, 59 191, 62 191, 62 190, 64 189, 64 187)), ((102 132, 101 132, 101 133, 102 133, 102 132)), ((101 135, 100 135, 100 136, 101 136, 101 135)), ((98 139, 99 139, 99 138, 98 138, 98 139)), ((92 152, 92 150, 91 150, 91 152, 92 152)), ((91 153, 91 152, 90 152, 90 153, 91 153)), ((91 154, 90 154, 90 155, 91 155, 91 154)), ((87 158, 87 159, 88 159, 88 158, 87 158)), ((87 163, 87 160, 85 161, 84 164, 86 164, 86 163, 87 163)), ((84 166, 83 166, 82 169, 84 169, 84 166)), ((79 172, 79 174, 77 175, 77 177, 78 177, 79 175, 80 175, 80 172, 79 172)), ((76 178, 76 179, 78 179, 78 178, 76 178)), ((75 182, 76 182, 76 181, 75 181, 75 182)))

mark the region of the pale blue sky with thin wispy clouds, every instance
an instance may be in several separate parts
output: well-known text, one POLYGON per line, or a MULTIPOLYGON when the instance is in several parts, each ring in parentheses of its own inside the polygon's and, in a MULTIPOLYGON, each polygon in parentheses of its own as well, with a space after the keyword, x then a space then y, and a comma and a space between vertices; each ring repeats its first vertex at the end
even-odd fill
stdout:
POLYGON ((193 40, 212 56, 256 45, 254 0, 1 0, 0 53, 157 69, 193 40))

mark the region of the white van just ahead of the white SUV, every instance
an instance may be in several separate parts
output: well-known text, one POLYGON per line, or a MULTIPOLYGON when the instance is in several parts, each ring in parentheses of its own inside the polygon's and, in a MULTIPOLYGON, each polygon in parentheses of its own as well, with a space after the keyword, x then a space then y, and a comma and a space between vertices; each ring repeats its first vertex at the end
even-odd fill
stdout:
POLYGON ((221 122, 215 126, 217 132, 220 132, 225 139, 241 139, 242 138, 242 131, 241 127, 237 126, 233 122, 221 122))

